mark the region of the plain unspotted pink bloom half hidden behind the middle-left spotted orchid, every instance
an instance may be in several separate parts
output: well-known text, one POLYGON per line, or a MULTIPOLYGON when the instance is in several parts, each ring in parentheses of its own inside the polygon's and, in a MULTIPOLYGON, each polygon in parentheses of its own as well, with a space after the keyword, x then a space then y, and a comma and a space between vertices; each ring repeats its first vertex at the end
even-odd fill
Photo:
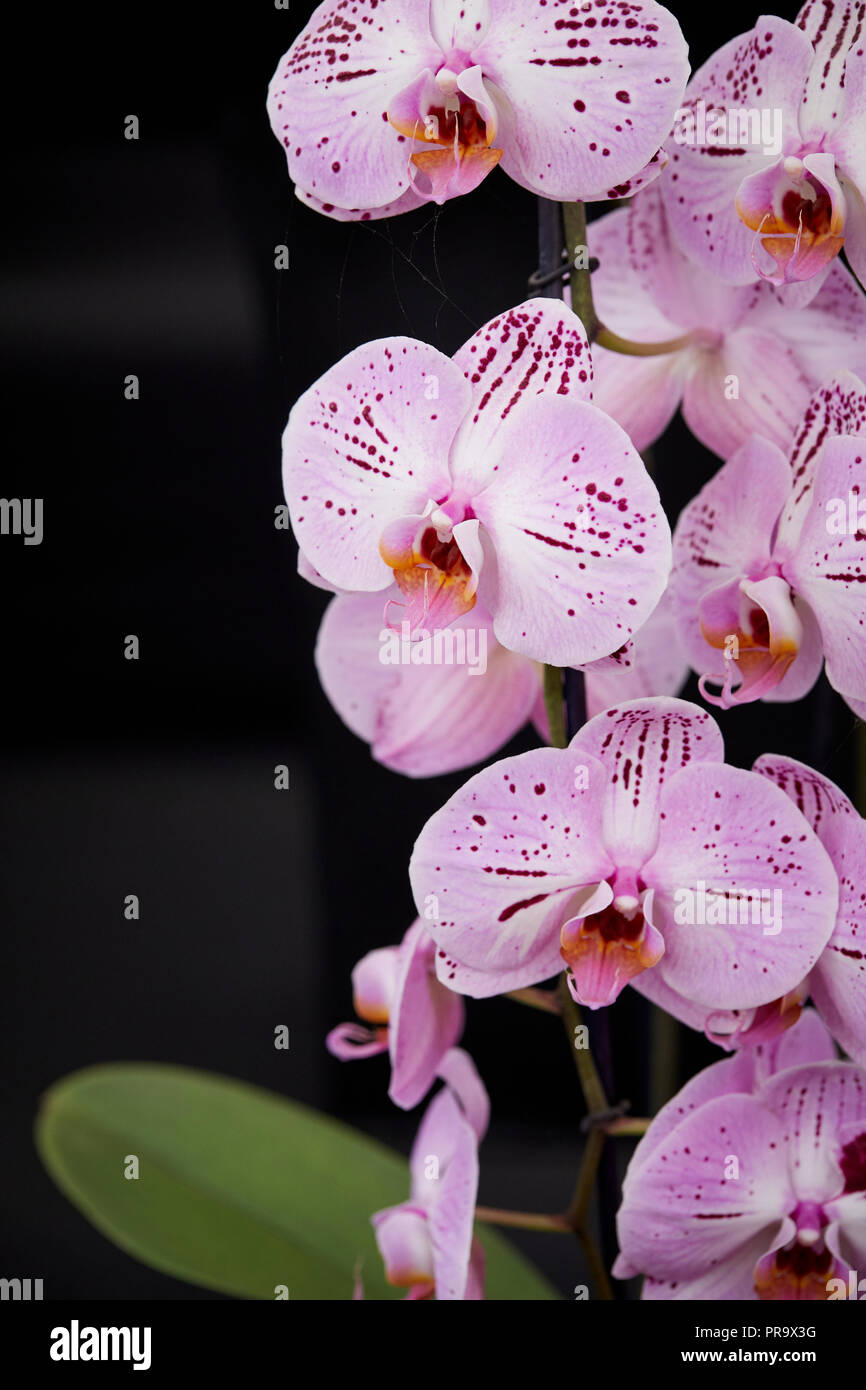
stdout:
MULTIPOLYGON (((321 621, 316 666, 343 723, 407 777, 485 762, 530 719, 549 741, 542 667, 500 646, 481 603, 442 634, 410 641, 382 627, 382 595, 339 595, 321 621)), ((688 671, 666 591, 621 656, 587 670, 587 709, 676 695, 688 671)))

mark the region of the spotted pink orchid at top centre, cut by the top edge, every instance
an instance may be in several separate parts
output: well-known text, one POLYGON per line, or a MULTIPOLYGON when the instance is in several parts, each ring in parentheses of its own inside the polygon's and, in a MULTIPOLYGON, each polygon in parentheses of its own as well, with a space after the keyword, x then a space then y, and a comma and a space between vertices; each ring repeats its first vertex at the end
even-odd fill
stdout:
POLYGON ((445 203, 496 164, 545 197, 624 197, 663 168, 687 51, 653 0, 328 0, 268 115, 297 196, 338 220, 445 203))

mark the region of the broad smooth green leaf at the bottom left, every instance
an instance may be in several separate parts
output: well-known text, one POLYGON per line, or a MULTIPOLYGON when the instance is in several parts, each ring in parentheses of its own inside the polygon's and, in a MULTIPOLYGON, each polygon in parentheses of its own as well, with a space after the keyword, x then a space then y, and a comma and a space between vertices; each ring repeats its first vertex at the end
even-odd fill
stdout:
MULTIPOLYGON (((403 1158, 270 1091, 178 1066, 95 1066, 46 1094, 36 1145, 60 1190, 121 1250, 242 1298, 366 1298, 385 1283, 370 1216, 403 1201, 403 1158), (139 1176, 126 1177, 129 1158, 139 1176)), ((489 1227, 488 1298, 556 1298, 489 1227)))

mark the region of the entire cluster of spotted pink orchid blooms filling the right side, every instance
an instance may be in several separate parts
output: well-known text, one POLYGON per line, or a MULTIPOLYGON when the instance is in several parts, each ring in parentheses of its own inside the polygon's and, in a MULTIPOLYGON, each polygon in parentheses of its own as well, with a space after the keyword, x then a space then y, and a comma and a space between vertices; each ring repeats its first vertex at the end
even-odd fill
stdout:
POLYGON ((407 1201, 373 1218, 409 1298, 484 1297, 464 997, 563 970, 578 1005, 631 987, 730 1054, 638 1144, 617 1277, 827 1298, 866 1272, 866 823, 790 758, 728 766, 677 698, 694 670, 726 710, 799 701, 823 667, 866 714, 865 10, 762 17, 689 79, 653 0, 328 0, 271 82, 296 193, 332 218, 442 204, 495 165, 542 199, 628 199, 589 228, 589 336, 531 299, 453 357, 370 342, 284 435, 299 570, 334 595, 318 671, 374 758, 484 763, 527 721, 549 735, 545 669, 585 681, 567 746, 484 766, 424 826, 418 916, 357 963, 363 1022, 328 1038, 386 1052, 406 1109, 443 1083, 407 1201), (671 136, 706 110, 733 143, 671 136), (778 149, 745 138, 763 110, 778 149), (677 409, 721 464, 671 537, 639 450, 677 409), (431 657, 468 630, 482 667, 431 657), (382 660, 392 631, 409 659, 382 660), (763 894, 780 930, 738 910, 763 894))

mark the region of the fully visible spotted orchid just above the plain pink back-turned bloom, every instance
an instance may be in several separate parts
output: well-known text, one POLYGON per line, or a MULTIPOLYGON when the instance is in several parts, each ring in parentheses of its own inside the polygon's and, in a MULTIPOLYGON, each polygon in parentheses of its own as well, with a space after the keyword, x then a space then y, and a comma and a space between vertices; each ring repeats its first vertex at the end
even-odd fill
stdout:
POLYGON ((498 642, 578 666, 623 646, 669 574, 655 484, 589 403, 580 320, 528 300, 453 359, 411 338, 350 352, 296 403, 284 485, 297 543, 325 585, 403 606, 435 632, 478 600, 498 642))

